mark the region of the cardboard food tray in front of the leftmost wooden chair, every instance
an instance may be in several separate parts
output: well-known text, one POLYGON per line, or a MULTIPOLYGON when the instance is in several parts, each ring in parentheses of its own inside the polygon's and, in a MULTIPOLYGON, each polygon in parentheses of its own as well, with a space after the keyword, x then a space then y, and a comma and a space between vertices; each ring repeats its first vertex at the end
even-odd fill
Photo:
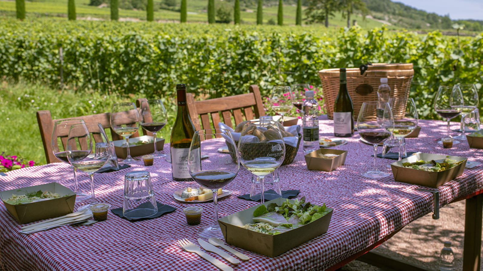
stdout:
MULTIPOLYGON (((142 145, 131 145, 131 143, 139 142, 139 141, 152 141, 152 136, 140 136, 140 137, 133 137, 129 139, 129 151, 131 156, 139 156, 139 155, 146 155, 154 153, 154 144, 146 143, 142 145)), ((114 149, 116 151, 116 156, 118 158, 126 158, 128 157, 128 147, 124 146, 123 144, 126 143, 126 140, 116 140, 114 142, 114 149)), ((164 147, 164 138, 156 138, 156 149, 158 151, 163 150, 164 147)))

